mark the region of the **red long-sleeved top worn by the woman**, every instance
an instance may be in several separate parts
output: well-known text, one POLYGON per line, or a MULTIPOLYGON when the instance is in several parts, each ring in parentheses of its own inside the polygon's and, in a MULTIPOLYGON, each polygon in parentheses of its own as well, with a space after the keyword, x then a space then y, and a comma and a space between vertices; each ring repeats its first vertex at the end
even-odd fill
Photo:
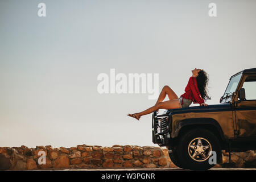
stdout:
MULTIPOLYGON (((199 89, 197 87, 196 77, 191 76, 189 78, 188 85, 185 88, 185 93, 182 94, 180 97, 192 100, 193 104, 202 104, 202 103, 204 103, 204 100, 201 97, 201 94, 200 94, 199 89)), ((183 99, 182 99, 181 105, 183 105, 183 99)))

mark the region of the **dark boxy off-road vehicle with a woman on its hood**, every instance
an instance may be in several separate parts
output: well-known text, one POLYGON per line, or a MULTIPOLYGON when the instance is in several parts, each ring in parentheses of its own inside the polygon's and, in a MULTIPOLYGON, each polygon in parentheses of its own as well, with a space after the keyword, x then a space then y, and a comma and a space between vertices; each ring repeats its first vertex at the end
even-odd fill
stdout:
POLYGON ((154 112, 152 142, 166 146, 172 162, 185 169, 213 167, 214 152, 222 163, 222 150, 229 160, 230 152, 256 150, 256 68, 230 77, 220 104, 154 112))

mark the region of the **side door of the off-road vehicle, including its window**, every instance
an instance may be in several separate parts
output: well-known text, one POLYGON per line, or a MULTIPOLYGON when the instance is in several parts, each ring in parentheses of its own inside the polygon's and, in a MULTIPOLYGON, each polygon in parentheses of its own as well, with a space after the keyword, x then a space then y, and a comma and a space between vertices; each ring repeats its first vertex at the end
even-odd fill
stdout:
POLYGON ((234 110, 237 137, 256 138, 256 75, 245 75, 240 88, 245 89, 245 100, 237 97, 234 110))

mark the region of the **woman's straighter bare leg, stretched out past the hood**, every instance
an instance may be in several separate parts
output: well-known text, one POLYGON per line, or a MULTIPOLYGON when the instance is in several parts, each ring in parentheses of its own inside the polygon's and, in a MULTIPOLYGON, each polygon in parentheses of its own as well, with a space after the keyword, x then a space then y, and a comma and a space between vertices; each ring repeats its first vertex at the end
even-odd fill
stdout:
POLYGON ((180 108, 180 102, 178 100, 170 100, 170 101, 164 101, 164 102, 159 102, 158 104, 142 111, 141 113, 135 113, 134 115, 137 118, 140 118, 142 115, 150 114, 155 110, 158 109, 177 109, 180 108))

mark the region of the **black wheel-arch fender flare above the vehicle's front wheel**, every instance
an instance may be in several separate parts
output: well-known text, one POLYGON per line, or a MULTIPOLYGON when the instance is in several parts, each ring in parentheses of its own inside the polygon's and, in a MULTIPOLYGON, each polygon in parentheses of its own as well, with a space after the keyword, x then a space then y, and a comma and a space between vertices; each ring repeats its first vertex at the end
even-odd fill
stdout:
POLYGON ((224 137, 224 133, 221 129, 220 124, 213 118, 188 118, 188 119, 183 119, 177 123, 177 126, 172 130, 172 138, 175 138, 179 135, 180 130, 185 127, 185 126, 200 126, 200 125, 210 125, 214 127, 218 131, 218 134, 220 134, 220 137, 223 141, 226 141, 224 137))

